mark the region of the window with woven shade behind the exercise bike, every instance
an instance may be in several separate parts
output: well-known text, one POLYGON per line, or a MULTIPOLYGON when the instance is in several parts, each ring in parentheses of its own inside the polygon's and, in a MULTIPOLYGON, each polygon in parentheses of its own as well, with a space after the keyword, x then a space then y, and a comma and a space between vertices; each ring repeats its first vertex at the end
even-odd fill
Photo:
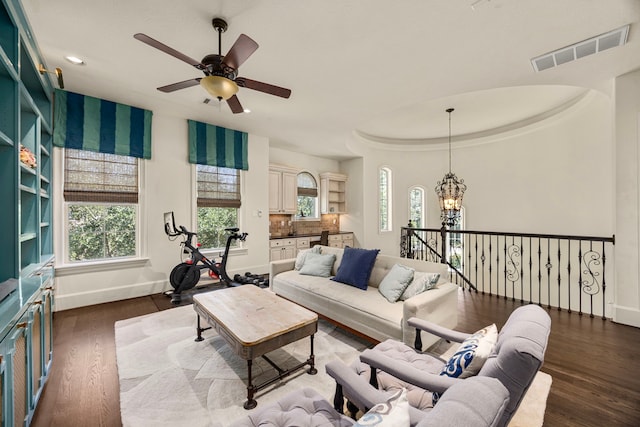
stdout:
POLYGON ((238 227, 240 171, 196 165, 196 181, 198 243, 207 249, 222 248, 227 242, 225 228, 238 227))

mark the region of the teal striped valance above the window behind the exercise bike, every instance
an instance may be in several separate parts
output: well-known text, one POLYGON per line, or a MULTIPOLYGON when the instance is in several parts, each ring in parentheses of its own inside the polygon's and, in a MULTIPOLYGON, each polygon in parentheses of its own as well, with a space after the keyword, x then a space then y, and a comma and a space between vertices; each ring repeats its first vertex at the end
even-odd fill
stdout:
POLYGON ((245 132, 189 120, 189 162, 249 170, 245 132))

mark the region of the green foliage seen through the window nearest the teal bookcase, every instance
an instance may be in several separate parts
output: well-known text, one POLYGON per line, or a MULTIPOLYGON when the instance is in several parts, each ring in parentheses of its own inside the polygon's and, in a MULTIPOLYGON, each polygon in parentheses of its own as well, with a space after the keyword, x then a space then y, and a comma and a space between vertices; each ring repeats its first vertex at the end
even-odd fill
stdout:
POLYGON ((68 207, 69 261, 136 255, 136 207, 78 204, 68 207))

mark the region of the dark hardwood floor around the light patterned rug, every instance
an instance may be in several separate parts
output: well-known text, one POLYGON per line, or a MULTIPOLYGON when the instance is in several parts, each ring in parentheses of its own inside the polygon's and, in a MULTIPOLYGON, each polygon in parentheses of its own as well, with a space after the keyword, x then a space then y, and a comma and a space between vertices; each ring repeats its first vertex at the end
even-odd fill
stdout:
MULTIPOLYGON (((185 301, 186 303, 187 301, 185 301)), ((518 302, 461 292, 457 329, 500 328, 518 302)), ((171 307, 164 295, 55 313, 54 359, 32 425, 120 426, 114 323, 171 307)), ((549 310, 546 426, 640 425, 640 329, 549 310)))

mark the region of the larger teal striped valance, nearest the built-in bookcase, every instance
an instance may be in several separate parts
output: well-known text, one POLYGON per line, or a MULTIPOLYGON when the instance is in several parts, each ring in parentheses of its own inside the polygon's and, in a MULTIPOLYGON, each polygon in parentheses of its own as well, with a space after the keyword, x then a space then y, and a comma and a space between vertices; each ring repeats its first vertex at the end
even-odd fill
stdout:
POLYGON ((152 112, 56 89, 53 144, 151 158, 152 112))

